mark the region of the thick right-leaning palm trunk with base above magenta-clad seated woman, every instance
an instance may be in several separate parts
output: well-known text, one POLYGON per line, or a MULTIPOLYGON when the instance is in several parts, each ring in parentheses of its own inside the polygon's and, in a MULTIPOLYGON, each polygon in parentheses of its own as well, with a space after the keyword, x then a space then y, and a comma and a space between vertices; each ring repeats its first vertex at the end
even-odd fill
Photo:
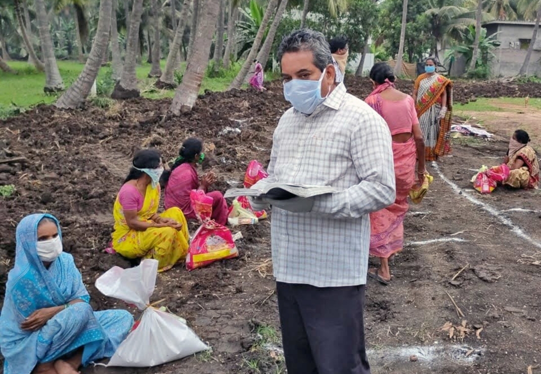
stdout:
POLYGON ((180 115, 181 111, 192 110, 195 104, 204 72, 207 69, 208 55, 212 36, 216 29, 215 20, 220 10, 220 4, 215 0, 206 0, 200 10, 202 13, 201 23, 197 28, 194 40, 194 45, 197 45, 197 48, 188 60, 182 83, 177 87, 171 103, 170 110, 175 115, 180 115))

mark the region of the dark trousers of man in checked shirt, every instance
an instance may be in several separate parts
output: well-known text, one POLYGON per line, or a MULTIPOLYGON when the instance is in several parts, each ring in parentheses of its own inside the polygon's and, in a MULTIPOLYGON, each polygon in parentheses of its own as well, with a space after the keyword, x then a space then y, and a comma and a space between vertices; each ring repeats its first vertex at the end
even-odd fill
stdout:
POLYGON ((365 285, 318 288, 276 282, 288 374, 370 374, 365 285))

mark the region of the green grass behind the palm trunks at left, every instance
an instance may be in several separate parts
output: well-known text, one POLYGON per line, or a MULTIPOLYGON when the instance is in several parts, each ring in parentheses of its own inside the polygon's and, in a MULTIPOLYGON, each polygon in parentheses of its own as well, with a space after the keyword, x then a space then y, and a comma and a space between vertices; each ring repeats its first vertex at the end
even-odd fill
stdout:
MULTIPOLYGON (((162 60, 162 69, 166 61, 162 60)), ((23 61, 10 61, 9 65, 12 69, 18 71, 17 75, 12 75, 0 71, 0 119, 9 116, 17 115, 31 106, 38 104, 52 104, 60 94, 47 95, 43 92, 45 84, 45 74, 38 72, 33 66, 23 61)), ((64 85, 69 87, 84 68, 84 64, 75 61, 58 61, 58 69, 64 85)), ((204 91, 225 91, 239 72, 240 63, 236 63, 229 70, 220 70, 219 74, 214 77, 207 75, 201 83, 200 93, 204 91)), ((186 69, 186 63, 181 64, 179 69, 181 73, 186 69)), ((154 87, 155 78, 148 78, 150 64, 147 62, 137 66, 137 78, 139 79, 139 88, 141 96, 150 99, 172 98, 175 96, 174 90, 158 90, 154 87)), ((98 74, 97 81, 105 79, 110 75, 110 66, 103 66, 98 74)), ((266 80, 275 79, 276 74, 266 74, 266 80)))

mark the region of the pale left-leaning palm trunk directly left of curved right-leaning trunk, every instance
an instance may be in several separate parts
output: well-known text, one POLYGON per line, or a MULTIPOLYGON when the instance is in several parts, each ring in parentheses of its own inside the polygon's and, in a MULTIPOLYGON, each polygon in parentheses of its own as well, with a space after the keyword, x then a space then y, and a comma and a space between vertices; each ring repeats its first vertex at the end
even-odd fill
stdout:
POLYGON ((43 91, 56 92, 64 89, 64 82, 60 76, 55 58, 55 50, 52 46, 51 33, 49 32, 49 21, 44 0, 36 0, 36 16, 39 25, 39 39, 41 51, 45 62, 45 86, 43 91))

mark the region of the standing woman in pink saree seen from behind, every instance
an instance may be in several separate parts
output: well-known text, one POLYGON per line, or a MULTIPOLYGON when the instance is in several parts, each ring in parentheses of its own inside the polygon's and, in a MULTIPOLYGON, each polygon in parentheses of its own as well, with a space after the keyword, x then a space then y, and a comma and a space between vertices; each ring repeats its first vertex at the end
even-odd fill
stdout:
POLYGON ((391 66, 377 63, 370 71, 374 90, 365 100, 385 119, 393 138, 394 175, 397 197, 393 204, 370 213, 370 254, 379 257, 380 268, 368 270, 368 276, 382 284, 391 280, 388 259, 404 245, 404 216, 408 210, 408 193, 425 175, 425 143, 419 127, 413 98, 394 88, 391 66))

